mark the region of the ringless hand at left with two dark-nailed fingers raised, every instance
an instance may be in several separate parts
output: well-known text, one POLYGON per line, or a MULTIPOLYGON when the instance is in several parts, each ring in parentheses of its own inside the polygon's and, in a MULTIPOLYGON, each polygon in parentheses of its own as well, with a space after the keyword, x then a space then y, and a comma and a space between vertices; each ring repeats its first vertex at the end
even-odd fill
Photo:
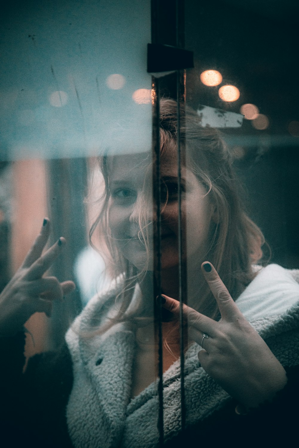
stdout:
POLYGON ((44 312, 49 317, 52 301, 62 300, 75 289, 72 281, 60 283, 56 277, 43 277, 65 245, 65 239, 59 238, 42 255, 49 233, 49 220, 45 219, 22 266, 0 294, 0 335, 14 335, 35 312, 44 312))

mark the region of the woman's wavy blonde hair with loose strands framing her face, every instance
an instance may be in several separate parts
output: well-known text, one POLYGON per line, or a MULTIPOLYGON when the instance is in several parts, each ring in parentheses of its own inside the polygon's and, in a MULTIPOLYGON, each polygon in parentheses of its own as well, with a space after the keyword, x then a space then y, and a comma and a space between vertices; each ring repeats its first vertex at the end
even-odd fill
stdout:
MULTIPOLYGON (((178 138, 177 103, 172 99, 160 101, 160 151, 176 147, 178 138)), ((239 198, 239 182, 232 168, 232 157, 221 134, 212 128, 201 126, 199 115, 185 105, 180 112, 180 143, 186 148, 186 163, 204 185, 210 200, 215 204, 217 224, 211 231, 211 241, 206 259, 218 271, 221 279, 234 299, 246 288, 254 277, 252 265, 262 258, 261 246, 264 236, 247 216, 239 198)), ((120 308, 111 325, 126 320, 126 310, 130 305, 132 289, 146 274, 146 267, 138 271, 126 260, 111 239, 108 223, 109 168, 108 158, 100 160, 105 190, 102 210, 91 226, 90 239, 99 227, 102 236, 102 250, 109 254, 110 272, 113 278, 123 275, 124 287, 121 292, 120 308)), ((146 225, 140 217, 140 238, 146 241, 146 225)), ((200 312, 216 318, 217 305, 208 284, 200 295, 200 312)))

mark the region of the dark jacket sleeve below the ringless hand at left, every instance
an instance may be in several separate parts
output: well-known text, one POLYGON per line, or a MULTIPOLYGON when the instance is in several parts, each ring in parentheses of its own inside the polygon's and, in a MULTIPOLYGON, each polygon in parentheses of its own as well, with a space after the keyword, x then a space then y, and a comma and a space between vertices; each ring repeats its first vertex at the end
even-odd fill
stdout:
POLYGON ((35 355, 23 374, 24 342, 24 333, 0 339, 1 436, 10 446, 30 440, 31 447, 71 447, 65 418, 73 384, 69 350, 64 344, 35 355))

